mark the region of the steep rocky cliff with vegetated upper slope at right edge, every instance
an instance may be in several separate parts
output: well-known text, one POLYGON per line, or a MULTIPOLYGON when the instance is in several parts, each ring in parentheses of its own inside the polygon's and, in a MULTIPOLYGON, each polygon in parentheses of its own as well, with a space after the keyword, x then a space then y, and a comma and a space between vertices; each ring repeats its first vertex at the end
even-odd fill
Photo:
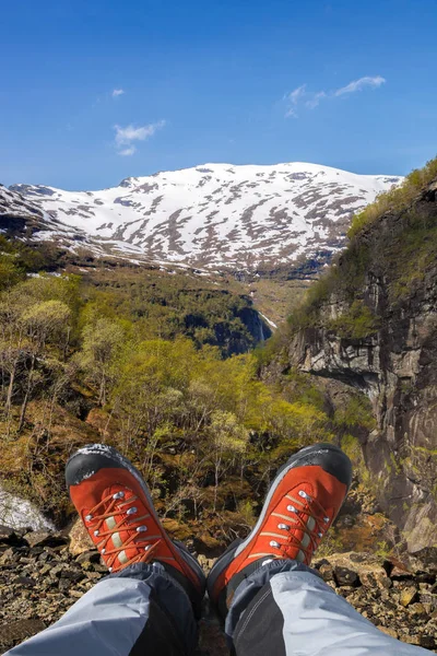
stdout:
POLYGON ((300 370, 370 398, 366 464, 412 553, 437 553, 436 190, 353 237, 288 349, 300 370))

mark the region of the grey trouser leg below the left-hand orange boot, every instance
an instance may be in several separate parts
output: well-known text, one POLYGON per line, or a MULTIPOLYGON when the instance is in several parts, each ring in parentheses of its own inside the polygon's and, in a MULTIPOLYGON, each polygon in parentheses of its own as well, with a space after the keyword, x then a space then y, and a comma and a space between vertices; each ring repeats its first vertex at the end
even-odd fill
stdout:
POLYGON ((186 591, 158 563, 107 576, 8 656, 182 656, 197 643, 186 591))

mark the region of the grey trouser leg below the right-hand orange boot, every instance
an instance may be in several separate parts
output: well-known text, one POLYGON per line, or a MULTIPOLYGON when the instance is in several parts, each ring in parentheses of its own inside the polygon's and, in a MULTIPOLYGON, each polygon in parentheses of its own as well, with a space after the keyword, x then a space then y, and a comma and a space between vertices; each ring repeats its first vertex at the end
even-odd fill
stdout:
POLYGON ((237 587, 226 618, 237 656, 429 656, 379 631, 312 570, 271 561, 237 587))

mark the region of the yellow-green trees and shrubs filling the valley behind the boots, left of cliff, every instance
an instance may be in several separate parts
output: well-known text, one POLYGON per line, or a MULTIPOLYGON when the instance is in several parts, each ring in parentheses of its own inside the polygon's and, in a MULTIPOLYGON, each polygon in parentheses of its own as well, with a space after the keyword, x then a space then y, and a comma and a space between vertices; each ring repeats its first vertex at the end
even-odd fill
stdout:
POLYGON ((140 468, 176 537, 214 549, 249 530, 292 453, 368 423, 359 403, 333 418, 294 370, 261 382, 262 349, 238 354, 253 311, 225 283, 106 267, 28 276, 32 253, 3 248, 0 475, 60 524, 66 459, 99 441, 140 468))

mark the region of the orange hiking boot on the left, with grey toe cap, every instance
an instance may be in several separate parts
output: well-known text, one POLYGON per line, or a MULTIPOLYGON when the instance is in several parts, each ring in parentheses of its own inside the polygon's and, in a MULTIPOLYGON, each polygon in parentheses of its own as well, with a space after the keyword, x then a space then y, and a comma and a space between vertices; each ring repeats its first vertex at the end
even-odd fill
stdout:
POLYGON ((91 539, 109 572, 157 561, 192 600, 204 593, 197 560, 168 537, 140 472, 114 447, 92 444, 67 462, 66 481, 91 539))

